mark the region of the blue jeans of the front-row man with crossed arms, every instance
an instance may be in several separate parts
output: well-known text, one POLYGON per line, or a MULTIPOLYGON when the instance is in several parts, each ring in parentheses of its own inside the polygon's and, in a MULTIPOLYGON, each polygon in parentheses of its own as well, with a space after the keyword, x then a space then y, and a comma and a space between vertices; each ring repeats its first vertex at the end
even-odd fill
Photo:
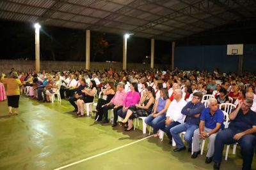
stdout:
POLYGON ((170 132, 172 134, 172 138, 174 139, 177 148, 184 147, 184 143, 182 142, 182 139, 180 139, 179 133, 180 132, 186 132, 184 135, 184 140, 187 141, 188 147, 192 147, 192 137, 194 135, 194 131, 198 128, 198 125, 195 124, 187 124, 186 122, 184 124, 177 125, 175 127, 172 127, 170 129, 170 132))

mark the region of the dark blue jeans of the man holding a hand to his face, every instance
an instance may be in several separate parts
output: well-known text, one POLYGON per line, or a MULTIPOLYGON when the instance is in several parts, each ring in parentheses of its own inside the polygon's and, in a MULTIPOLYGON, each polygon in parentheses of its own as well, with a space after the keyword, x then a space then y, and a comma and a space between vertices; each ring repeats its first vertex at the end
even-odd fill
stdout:
POLYGON ((233 139, 234 135, 242 132, 237 129, 224 129, 223 131, 218 132, 215 143, 214 143, 214 155, 213 161, 220 163, 222 159, 222 152, 224 145, 230 145, 233 143, 239 143, 241 147, 241 155, 243 157, 243 170, 251 169, 252 159, 253 159, 253 148, 256 145, 256 135, 255 134, 246 134, 238 141, 233 139))

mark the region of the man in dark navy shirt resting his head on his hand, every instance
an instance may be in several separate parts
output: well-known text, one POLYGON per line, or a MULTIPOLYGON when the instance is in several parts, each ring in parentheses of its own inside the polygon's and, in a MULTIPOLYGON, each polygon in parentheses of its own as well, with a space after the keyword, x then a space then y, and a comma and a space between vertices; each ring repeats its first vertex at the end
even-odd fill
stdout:
POLYGON ((249 98, 239 103, 236 110, 229 115, 231 122, 228 129, 218 132, 212 158, 215 162, 214 169, 220 169, 224 145, 232 143, 239 143, 241 147, 243 170, 252 168, 253 150, 256 145, 256 113, 250 110, 252 104, 253 100, 249 98))

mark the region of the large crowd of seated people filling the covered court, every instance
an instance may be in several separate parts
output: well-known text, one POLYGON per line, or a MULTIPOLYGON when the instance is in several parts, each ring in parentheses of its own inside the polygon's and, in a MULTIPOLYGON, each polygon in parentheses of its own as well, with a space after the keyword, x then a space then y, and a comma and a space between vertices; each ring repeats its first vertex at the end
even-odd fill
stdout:
POLYGON ((92 103, 95 95, 102 92, 105 97, 98 100, 94 110, 96 122, 108 123, 108 111, 113 109, 112 126, 118 124, 119 116, 124 118, 124 131, 131 131, 134 118, 147 117, 145 123, 153 127, 154 137, 159 129, 166 132, 169 143, 176 143, 173 151, 186 150, 187 146, 192 159, 200 153, 200 139, 209 138, 205 163, 213 160, 214 169, 220 169, 223 146, 239 143, 243 169, 251 168, 256 145, 253 73, 109 69, 30 71, 19 73, 19 78, 24 84, 20 90, 24 93, 27 86, 33 88, 31 97, 40 101, 49 101, 49 96, 60 90, 61 97, 68 99, 78 116, 84 116, 84 103, 92 103), (204 95, 212 96, 207 105, 202 103, 204 95), (228 129, 223 129, 223 111, 219 108, 223 103, 236 106, 230 112, 228 129), (180 138, 181 132, 187 145, 180 138))

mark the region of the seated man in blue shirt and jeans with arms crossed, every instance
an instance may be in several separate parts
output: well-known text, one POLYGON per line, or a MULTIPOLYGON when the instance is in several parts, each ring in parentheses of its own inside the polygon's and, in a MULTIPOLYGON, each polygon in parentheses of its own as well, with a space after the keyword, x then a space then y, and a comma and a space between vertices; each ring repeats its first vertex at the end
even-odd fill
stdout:
POLYGON ((192 101, 189 101, 189 103, 181 110, 181 113, 186 115, 184 123, 170 129, 172 137, 177 144, 177 148, 173 150, 174 152, 186 150, 186 147, 179 136, 179 133, 184 131, 186 132, 186 134, 184 134, 184 140, 188 142, 188 152, 191 152, 192 137, 194 131, 198 129, 200 114, 205 108, 204 104, 201 103, 202 97, 203 94, 201 92, 193 93, 192 101))

